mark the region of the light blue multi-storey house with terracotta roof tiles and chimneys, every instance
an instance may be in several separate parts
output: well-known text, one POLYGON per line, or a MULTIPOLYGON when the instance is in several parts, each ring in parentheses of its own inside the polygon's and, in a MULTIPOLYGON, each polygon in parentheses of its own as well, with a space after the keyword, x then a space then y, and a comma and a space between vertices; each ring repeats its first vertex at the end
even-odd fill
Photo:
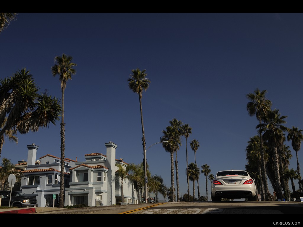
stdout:
MULTIPOLYGON (((60 191, 61 158, 47 154, 36 159, 39 147, 35 144, 27 147, 27 162, 15 165, 16 168, 23 170, 24 174, 20 193, 35 197, 41 207, 57 206, 60 191)), ((116 163, 122 163, 123 166, 128 164, 122 159, 116 159, 117 145, 115 143, 110 141, 105 143, 105 147, 105 155, 102 153, 86 154, 83 162, 65 158, 64 206, 138 203, 137 192, 132 181, 128 178, 124 178, 124 201, 122 201, 121 178, 116 173, 118 169, 116 163)))

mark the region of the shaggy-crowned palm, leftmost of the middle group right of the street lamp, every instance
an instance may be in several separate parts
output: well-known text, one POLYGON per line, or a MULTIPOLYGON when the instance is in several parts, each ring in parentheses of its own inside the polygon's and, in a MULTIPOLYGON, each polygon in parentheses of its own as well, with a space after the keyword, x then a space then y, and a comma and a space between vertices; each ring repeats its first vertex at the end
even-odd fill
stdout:
MULTIPOLYGON (((171 160, 171 192, 175 193, 175 175, 174 175, 174 152, 179 149, 180 133, 175 130, 174 127, 168 126, 166 130, 162 131, 163 136, 161 137, 161 142, 168 141, 168 143, 162 143, 163 148, 166 152, 170 153, 171 160)), ((172 201, 175 202, 175 195, 171 195, 172 201)))

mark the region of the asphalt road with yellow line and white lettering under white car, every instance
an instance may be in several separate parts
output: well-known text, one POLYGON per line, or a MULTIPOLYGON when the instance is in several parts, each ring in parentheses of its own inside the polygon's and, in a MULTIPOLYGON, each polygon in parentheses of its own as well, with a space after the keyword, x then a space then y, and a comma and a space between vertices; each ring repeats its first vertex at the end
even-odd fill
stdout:
POLYGON ((166 202, 61 209, 36 214, 285 214, 302 216, 303 203, 283 201, 166 202))

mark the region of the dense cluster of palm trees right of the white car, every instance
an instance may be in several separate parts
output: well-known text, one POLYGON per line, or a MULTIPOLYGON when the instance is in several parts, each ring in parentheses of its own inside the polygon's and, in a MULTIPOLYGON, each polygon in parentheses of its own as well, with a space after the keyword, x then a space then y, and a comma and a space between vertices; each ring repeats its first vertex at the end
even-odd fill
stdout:
MULTIPOLYGON (((261 200, 271 201, 268 190, 268 180, 276 192, 277 199, 290 198, 288 180, 301 180, 298 151, 303 140, 302 130, 298 127, 284 126, 287 116, 281 116, 278 109, 271 109, 271 101, 265 97, 266 90, 255 89, 254 93, 246 95, 249 102, 246 109, 250 116, 256 116, 259 124, 256 126, 258 135, 251 137, 246 147, 246 170, 256 179, 257 190, 261 200), (287 134, 287 135, 286 135, 287 134), (297 170, 289 170, 289 159, 292 157, 289 147, 284 143, 291 140, 297 156, 297 170)), ((302 186, 299 184, 299 193, 302 186)))

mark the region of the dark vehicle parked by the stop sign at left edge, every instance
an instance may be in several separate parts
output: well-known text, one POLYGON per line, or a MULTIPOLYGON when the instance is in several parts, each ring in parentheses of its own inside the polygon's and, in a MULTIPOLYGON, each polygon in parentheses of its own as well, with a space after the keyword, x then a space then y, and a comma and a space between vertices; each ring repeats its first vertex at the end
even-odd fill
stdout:
POLYGON ((17 191, 0 191, 1 196, 1 204, 0 206, 15 206, 15 207, 38 207, 37 199, 23 196, 17 191), (9 199, 11 199, 11 203, 9 203, 9 199))

